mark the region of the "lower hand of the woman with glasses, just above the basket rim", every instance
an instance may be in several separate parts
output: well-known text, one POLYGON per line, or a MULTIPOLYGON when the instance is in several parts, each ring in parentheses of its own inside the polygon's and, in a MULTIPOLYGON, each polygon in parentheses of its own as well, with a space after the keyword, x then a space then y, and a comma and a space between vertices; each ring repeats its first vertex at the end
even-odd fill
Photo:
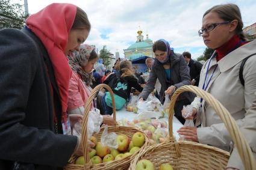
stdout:
POLYGON ((179 135, 183 135, 184 139, 198 142, 198 133, 196 132, 196 127, 181 127, 181 129, 177 130, 179 135))

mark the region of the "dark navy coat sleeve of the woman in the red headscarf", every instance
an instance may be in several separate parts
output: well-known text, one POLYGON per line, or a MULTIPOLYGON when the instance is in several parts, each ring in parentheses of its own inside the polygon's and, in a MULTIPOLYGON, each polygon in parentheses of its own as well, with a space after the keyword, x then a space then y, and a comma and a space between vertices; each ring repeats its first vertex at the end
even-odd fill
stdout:
POLYGON ((0 89, 4 89, 0 93, 0 159, 64 166, 78 138, 22 124, 39 65, 36 49, 19 30, 0 30, 0 89))

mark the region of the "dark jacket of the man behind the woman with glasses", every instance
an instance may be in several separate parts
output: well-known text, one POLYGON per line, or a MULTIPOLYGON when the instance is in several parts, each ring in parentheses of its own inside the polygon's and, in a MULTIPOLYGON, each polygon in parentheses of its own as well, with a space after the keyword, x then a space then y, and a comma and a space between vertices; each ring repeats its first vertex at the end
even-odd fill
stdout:
POLYGON ((190 77, 191 79, 195 79, 196 83, 195 85, 198 87, 198 83, 199 83, 199 79, 200 79, 200 73, 201 73, 201 69, 202 69, 202 64, 198 61, 195 61, 193 59, 190 59, 189 61, 189 73, 190 73, 190 77))

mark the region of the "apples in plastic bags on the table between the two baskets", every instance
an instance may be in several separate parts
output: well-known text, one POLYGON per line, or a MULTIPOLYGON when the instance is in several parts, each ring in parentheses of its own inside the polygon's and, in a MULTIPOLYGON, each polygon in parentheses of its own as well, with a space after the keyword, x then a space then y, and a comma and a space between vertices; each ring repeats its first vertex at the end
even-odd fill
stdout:
POLYGON ((136 127, 141 130, 148 136, 151 145, 166 141, 168 136, 168 124, 165 120, 139 118, 133 121, 121 120, 119 124, 121 126, 136 127))

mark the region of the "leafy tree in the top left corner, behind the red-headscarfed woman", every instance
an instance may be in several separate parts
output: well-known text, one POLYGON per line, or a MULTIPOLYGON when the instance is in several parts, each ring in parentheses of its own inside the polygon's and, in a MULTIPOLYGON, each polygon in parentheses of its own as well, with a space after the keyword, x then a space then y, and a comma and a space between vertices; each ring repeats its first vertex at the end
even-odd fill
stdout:
POLYGON ((26 18, 23 5, 11 4, 10 0, 0 1, 0 29, 20 29, 25 25, 26 18))

